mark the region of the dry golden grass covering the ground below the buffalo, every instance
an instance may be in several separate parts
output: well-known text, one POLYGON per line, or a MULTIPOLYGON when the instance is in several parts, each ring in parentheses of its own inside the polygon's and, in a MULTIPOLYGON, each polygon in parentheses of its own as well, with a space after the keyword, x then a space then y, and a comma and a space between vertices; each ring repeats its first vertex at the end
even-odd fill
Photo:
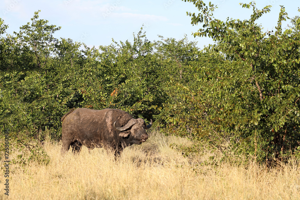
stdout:
MULTIPOLYGON (((184 158, 171 149, 174 142, 190 144, 154 131, 115 161, 102 148, 88 153, 84 147, 77 156, 69 151, 62 157, 61 143, 48 141, 48 166, 10 164, 9 199, 300 199, 296 161, 268 171, 255 164, 205 166, 205 157, 184 158)), ((3 170, 0 180, 0 199, 7 199, 3 170)))

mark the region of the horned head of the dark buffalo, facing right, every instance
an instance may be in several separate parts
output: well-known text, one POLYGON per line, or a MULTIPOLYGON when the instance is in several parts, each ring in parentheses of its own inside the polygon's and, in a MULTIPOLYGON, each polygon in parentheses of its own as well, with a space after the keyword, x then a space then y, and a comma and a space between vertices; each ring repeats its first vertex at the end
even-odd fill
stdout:
POLYGON ((120 131, 119 136, 124 139, 128 139, 128 145, 137 144, 140 145, 142 142, 146 142, 148 139, 148 134, 146 129, 149 129, 152 126, 152 119, 150 124, 146 125, 146 122, 142 118, 131 119, 123 127, 117 127, 116 121, 113 124, 113 127, 120 131))

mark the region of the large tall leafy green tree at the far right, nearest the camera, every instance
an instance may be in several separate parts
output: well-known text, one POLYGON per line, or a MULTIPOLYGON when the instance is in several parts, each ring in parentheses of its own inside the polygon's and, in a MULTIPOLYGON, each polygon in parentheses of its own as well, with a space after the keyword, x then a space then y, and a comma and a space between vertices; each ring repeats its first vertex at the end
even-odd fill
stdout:
MULTIPOLYGON (((229 62, 193 66, 200 84, 209 83, 211 92, 189 101, 201 105, 205 96, 212 100, 206 108, 206 119, 211 123, 200 133, 208 131, 214 141, 223 140, 220 135, 228 137, 237 155, 259 161, 280 160, 291 152, 299 154, 299 18, 292 19, 292 27, 283 30, 282 22, 289 17, 281 6, 275 31, 263 33, 256 20, 271 6, 259 10, 254 2, 241 4, 253 10, 250 19, 227 18, 223 22, 213 17, 213 4, 185 1, 193 2, 200 11, 198 15, 187 12, 191 24, 202 24, 194 36, 211 37, 216 44, 208 51, 221 53, 229 62)), ((194 110, 195 115, 202 113, 194 110)), ((226 154, 224 148, 220 150, 226 154)))

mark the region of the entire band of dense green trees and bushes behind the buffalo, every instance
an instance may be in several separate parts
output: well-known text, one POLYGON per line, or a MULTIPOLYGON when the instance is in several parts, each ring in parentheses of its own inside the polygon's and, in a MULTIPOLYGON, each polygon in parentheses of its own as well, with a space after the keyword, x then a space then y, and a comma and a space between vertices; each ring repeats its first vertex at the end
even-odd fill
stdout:
POLYGON ((253 8, 249 20, 223 22, 213 17, 211 3, 188 1, 200 11, 187 13, 192 24, 203 24, 194 36, 216 44, 199 50, 186 37, 151 42, 141 28, 132 43, 96 49, 54 38, 60 27, 39 19, 39 12, 14 35, 0 19, 1 130, 9 129, 16 148, 30 152, 28 160, 49 162, 29 141, 43 141, 46 133, 59 140, 60 118, 71 108, 119 108, 193 140, 193 147, 180 147, 185 155, 203 146, 223 158, 231 152, 259 161, 299 154, 299 18, 283 31, 289 18, 282 7, 276 31, 263 33, 255 21, 270 6, 242 4, 253 8))

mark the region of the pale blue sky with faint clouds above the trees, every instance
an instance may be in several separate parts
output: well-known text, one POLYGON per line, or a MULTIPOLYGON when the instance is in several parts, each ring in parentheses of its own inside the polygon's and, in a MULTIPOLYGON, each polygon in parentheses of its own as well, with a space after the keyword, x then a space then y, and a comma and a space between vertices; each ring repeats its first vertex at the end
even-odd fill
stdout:
MULTIPOLYGON (((208 4, 209 1, 204 1, 208 4)), ((213 0, 219 5, 214 13, 218 19, 227 16, 234 19, 249 19, 251 9, 242 8, 238 3, 249 3, 250 0, 213 0)), ((265 14, 258 22, 268 30, 277 25, 279 5, 284 5, 289 17, 300 15, 297 0, 262 0, 256 2, 261 9, 272 5, 271 12, 265 14)), ((0 18, 9 26, 7 32, 19 32, 19 27, 30 22, 34 12, 41 10, 40 19, 47 19, 49 24, 61 26, 55 37, 71 38, 88 46, 109 45, 111 38, 115 41, 133 39, 145 24, 144 31, 149 40, 159 40, 158 35, 182 39, 187 34, 190 41, 198 41, 202 48, 212 43, 205 37, 194 38, 191 34, 200 26, 192 26, 186 11, 198 13, 192 3, 181 0, 2 0, 0 18)), ((288 23, 288 22, 287 22, 288 23)), ((286 24, 285 24, 286 25, 286 24)), ((284 26, 285 26, 284 25, 284 26)))

